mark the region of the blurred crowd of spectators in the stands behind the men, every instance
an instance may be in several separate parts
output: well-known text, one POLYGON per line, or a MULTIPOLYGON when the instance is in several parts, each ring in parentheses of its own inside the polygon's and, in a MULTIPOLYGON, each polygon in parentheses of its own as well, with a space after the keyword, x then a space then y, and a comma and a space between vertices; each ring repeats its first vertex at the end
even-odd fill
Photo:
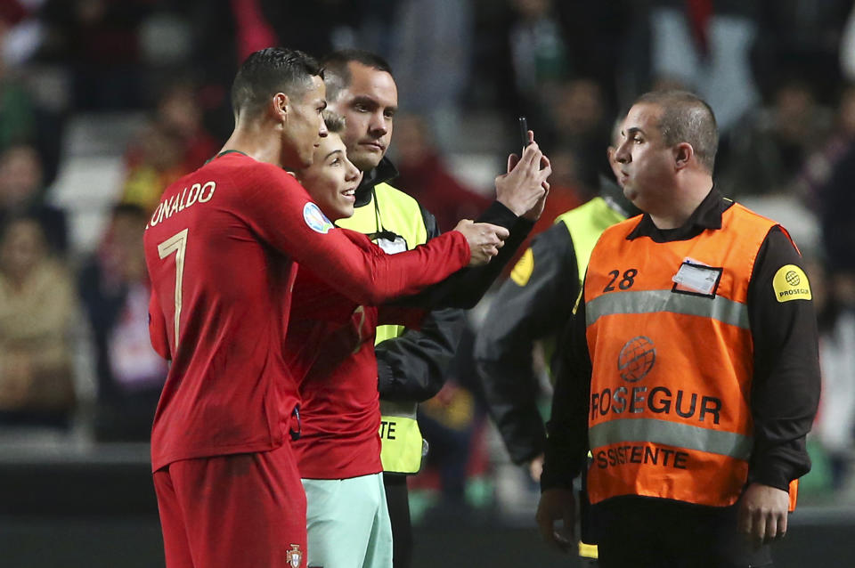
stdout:
MULTIPOLYGON (((851 0, 0 0, 0 432, 83 424, 98 441, 147 439, 166 364, 148 340, 142 231, 167 183, 219 149, 235 69, 266 45, 387 57, 402 107, 395 185, 444 230, 490 200, 492 183, 460 175, 466 152, 494 155, 500 173, 517 116, 555 172, 536 232, 597 193, 612 126, 637 94, 699 93, 719 120, 721 191, 779 218, 814 267, 818 459, 827 488, 852 484, 851 0), (97 246, 79 247, 71 212, 51 196, 69 120, 106 113, 145 120, 121 150, 97 246)), ((487 434, 471 349, 459 351, 422 411, 434 474, 413 483, 465 508, 477 500, 468 482, 489 478, 501 447, 487 434)))

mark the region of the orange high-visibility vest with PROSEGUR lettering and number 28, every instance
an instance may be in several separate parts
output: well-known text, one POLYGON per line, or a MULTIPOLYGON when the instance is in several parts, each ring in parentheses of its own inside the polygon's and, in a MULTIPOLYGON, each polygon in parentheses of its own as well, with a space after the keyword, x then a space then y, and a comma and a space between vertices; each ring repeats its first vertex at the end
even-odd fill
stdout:
POLYGON ((590 501, 737 501, 753 448, 754 261, 778 226, 734 204, 721 230, 655 243, 607 229, 585 280, 590 501))

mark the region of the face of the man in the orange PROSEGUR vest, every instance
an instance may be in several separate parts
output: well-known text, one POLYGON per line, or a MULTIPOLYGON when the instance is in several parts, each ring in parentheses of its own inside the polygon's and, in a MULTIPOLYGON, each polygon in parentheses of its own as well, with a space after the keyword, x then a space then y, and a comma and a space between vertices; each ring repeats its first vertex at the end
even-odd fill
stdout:
POLYGON ((642 211, 655 212, 671 199, 676 170, 673 148, 659 130, 662 108, 634 105, 623 120, 622 140, 615 150, 617 181, 623 194, 642 211))

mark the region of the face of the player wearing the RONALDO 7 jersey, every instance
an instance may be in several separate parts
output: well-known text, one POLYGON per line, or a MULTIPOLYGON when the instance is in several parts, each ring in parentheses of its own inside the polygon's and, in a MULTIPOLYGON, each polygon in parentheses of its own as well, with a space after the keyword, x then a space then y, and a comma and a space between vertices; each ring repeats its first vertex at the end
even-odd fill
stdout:
POLYGON ((327 135, 321 111, 327 106, 321 77, 302 94, 289 97, 288 117, 282 130, 282 167, 289 170, 312 165, 314 150, 327 135))

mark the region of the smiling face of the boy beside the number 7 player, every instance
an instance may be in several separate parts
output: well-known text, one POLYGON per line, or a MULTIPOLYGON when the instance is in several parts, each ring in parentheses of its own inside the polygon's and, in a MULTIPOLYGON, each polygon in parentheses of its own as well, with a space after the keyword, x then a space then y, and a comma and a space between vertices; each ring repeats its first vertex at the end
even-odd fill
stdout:
POLYGON ((309 192, 323 215, 332 221, 354 215, 356 186, 362 173, 347 159, 345 143, 329 134, 314 150, 311 166, 297 170, 297 179, 309 192))

